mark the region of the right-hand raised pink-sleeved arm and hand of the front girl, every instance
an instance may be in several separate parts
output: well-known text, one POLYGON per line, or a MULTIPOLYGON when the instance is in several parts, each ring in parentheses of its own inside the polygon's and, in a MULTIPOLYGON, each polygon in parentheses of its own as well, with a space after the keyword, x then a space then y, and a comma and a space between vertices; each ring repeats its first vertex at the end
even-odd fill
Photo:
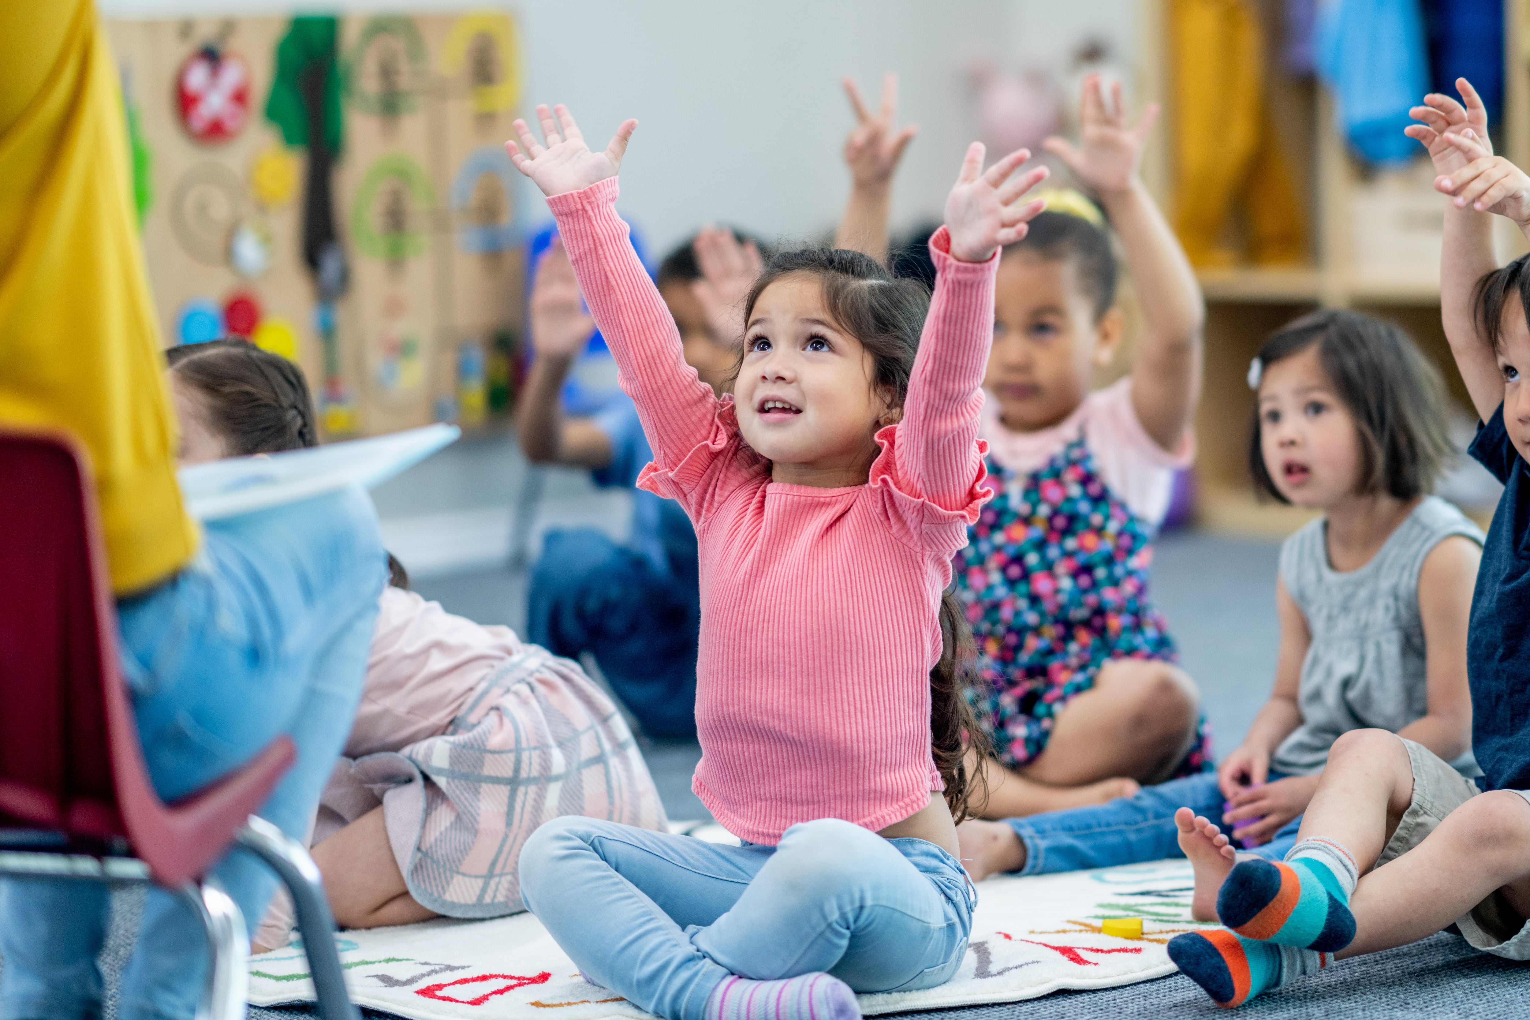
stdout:
POLYGON ((898 474, 936 506, 964 509, 978 474, 982 373, 993 346, 994 252, 1025 237, 1045 202, 1017 199, 1047 179, 1037 167, 1013 180, 1031 158, 1016 150, 982 170, 984 147, 967 148, 956 187, 946 199, 946 228, 930 239, 938 268, 935 297, 913 359, 909 396, 894 453, 898 474))

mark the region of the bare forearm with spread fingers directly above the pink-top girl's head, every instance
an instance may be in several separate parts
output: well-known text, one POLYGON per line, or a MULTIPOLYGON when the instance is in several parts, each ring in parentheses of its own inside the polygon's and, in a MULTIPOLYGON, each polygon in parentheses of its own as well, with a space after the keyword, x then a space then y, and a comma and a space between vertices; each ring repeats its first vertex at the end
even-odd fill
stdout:
POLYGON ((918 133, 909 124, 898 127, 898 76, 881 81, 881 107, 875 115, 861 101, 855 81, 845 80, 845 93, 855 109, 855 127, 845 139, 845 165, 851 168, 851 200, 834 232, 834 246, 848 248, 887 261, 887 211, 892 203, 892 176, 903 150, 918 133))

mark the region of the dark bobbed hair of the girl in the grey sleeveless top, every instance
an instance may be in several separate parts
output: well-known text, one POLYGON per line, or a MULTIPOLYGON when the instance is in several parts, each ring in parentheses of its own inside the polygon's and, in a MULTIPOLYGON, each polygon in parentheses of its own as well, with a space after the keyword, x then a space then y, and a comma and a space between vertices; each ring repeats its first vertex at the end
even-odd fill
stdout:
MULTIPOLYGON (((1414 338, 1385 320, 1328 309, 1276 330, 1259 349, 1259 373, 1317 347, 1334 393, 1360 433, 1362 494, 1426 495, 1455 453, 1446 425, 1444 381, 1414 338)), ((1259 408, 1253 411, 1248 471, 1261 497, 1288 502, 1264 463, 1259 408)))

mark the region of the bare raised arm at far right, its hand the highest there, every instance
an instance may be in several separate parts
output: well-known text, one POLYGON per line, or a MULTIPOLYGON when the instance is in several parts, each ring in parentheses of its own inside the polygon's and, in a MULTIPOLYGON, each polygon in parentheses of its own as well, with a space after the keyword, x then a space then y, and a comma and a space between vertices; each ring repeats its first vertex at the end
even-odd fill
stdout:
MULTIPOLYGON (((1464 104, 1447 95, 1431 93, 1424 106, 1414 107, 1409 115, 1420 121, 1406 135, 1429 150, 1435 173, 1435 187, 1457 197, 1449 187, 1454 176, 1467 170, 1467 156, 1450 138, 1470 135, 1481 145, 1487 141, 1487 109, 1466 78, 1455 83, 1464 104)), ((1473 313, 1472 298, 1476 281, 1498 268, 1493 255, 1492 216, 1464 202, 1449 202, 1444 213, 1444 240, 1440 251, 1440 315, 1444 335, 1455 355, 1457 369, 1472 396, 1472 405, 1484 422, 1493 416, 1504 401, 1504 378, 1492 347, 1483 339, 1473 313)))

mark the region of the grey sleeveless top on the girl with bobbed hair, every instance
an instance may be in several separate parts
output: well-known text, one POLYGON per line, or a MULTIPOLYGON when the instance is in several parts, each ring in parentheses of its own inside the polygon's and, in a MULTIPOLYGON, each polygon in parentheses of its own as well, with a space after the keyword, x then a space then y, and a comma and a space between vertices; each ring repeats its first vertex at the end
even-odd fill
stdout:
MULTIPOLYGON (((1339 572, 1328 564, 1323 518, 1281 546, 1281 578, 1307 616, 1313 642, 1302 662, 1302 725, 1276 749, 1270 768, 1308 775, 1351 729, 1397 733, 1427 711, 1424 629, 1418 572, 1450 535, 1483 544, 1483 529, 1437 495, 1424 497, 1371 561, 1339 572)), ((1454 762, 1475 774, 1470 752, 1454 762)))

